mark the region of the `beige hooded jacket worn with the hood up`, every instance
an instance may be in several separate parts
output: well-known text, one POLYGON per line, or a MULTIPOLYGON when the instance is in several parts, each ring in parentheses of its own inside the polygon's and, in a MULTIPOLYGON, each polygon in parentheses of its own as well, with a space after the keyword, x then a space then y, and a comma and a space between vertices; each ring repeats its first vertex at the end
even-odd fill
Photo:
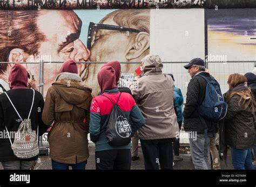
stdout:
POLYGON ((163 63, 158 55, 147 55, 142 60, 144 76, 138 79, 132 95, 145 118, 139 129, 142 140, 174 138, 179 132, 173 106, 173 80, 162 74, 163 63))

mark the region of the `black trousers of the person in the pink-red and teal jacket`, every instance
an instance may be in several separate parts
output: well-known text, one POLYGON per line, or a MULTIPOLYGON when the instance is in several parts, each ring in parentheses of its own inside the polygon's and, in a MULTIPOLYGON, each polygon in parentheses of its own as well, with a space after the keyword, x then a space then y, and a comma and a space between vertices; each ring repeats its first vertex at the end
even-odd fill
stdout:
POLYGON ((131 149, 95 152, 96 169, 131 169, 131 149))

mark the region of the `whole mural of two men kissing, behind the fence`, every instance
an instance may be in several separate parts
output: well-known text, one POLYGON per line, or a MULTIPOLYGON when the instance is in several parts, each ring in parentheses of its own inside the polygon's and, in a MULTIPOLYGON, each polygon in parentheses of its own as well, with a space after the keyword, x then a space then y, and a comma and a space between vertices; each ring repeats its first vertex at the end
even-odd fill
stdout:
MULTIPOLYGON (((58 74, 61 63, 72 59, 82 80, 98 92, 97 73, 102 63, 113 60, 140 62, 150 52, 150 10, 29 10, 0 12, 0 61, 21 62, 32 74, 45 61, 44 90, 58 74)), ((8 80, 11 64, 1 64, 8 80)), ((124 64, 123 73, 138 64, 124 64)), ((45 94, 44 94, 45 95, 45 94)))

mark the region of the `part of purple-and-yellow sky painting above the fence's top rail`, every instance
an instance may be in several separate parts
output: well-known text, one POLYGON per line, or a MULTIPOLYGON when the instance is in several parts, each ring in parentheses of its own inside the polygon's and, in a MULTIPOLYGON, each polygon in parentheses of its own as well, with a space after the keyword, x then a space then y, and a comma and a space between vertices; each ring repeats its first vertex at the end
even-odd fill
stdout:
POLYGON ((209 57, 226 55, 227 61, 255 61, 255 15, 256 9, 207 10, 209 57))

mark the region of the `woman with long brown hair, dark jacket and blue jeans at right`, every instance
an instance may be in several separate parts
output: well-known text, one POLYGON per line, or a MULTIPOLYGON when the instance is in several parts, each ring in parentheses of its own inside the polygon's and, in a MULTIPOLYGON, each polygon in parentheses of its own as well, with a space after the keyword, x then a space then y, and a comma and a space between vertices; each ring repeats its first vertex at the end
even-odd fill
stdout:
POLYGON ((225 144, 231 147, 234 169, 254 169, 251 148, 255 138, 253 113, 256 103, 244 75, 232 74, 227 83, 229 90, 224 93, 227 103, 225 144))

